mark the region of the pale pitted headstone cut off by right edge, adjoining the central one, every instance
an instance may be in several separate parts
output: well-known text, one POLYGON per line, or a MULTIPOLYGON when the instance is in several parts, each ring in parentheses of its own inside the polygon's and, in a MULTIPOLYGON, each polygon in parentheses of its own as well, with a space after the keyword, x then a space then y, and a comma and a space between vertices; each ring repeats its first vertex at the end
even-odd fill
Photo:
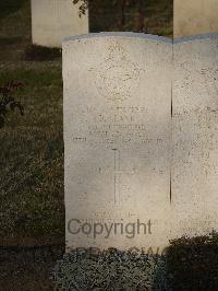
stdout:
POLYGON ((172 207, 174 236, 217 230, 218 34, 174 45, 172 207))

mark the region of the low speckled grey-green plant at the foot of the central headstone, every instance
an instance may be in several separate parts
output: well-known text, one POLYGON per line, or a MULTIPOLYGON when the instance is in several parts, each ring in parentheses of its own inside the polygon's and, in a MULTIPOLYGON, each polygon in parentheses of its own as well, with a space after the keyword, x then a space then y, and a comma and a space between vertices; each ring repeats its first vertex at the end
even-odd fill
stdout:
POLYGON ((157 290, 162 286, 157 278, 162 268, 160 256, 77 248, 57 263, 51 279, 55 290, 157 290))

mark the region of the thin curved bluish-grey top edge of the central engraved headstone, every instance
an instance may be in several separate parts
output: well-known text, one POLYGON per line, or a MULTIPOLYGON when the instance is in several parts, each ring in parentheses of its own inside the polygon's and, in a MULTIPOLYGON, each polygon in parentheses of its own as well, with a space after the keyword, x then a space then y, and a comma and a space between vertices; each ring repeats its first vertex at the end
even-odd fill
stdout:
POLYGON ((98 38, 98 37, 126 37, 126 38, 141 38, 141 39, 153 39, 156 42, 172 44, 172 39, 169 37, 153 35, 153 34, 144 34, 144 33, 132 33, 132 32, 104 32, 104 33, 89 33, 83 35, 75 35, 64 38, 62 46, 69 42, 80 40, 80 39, 89 39, 89 38, 98 38))

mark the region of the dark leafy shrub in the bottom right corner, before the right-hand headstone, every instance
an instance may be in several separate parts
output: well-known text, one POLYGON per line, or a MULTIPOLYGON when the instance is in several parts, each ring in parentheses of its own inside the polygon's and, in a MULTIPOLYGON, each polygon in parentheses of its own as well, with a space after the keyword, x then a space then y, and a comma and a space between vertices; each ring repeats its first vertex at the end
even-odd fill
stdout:
POLYGON ((166 264, 173 290, 218 290, 218 233, 172 241, 166 264))

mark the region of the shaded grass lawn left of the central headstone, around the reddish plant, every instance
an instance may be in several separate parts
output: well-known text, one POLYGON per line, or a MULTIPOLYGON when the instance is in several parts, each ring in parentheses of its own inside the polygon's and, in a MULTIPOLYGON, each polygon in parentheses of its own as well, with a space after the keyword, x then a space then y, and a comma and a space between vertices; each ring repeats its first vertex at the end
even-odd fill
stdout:
POLYGON ((0 129, 0 244, 64 242, 61 61, 4 62, 0 86, 19 81, 25 114, 0 129))

